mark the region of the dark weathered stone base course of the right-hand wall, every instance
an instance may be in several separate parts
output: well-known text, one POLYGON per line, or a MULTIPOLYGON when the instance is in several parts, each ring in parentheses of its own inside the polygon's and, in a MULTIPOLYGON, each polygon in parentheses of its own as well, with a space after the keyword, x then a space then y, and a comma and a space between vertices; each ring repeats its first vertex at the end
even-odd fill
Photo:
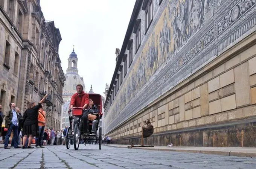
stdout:
MULTIPOLYGON (((115 139, 112 144, 140 145, 139 137, 115 139)), ((256 118, 197 127, 187 130, 155 133, 144 139, 144 145, 194 147, 256 147, 256 118)))

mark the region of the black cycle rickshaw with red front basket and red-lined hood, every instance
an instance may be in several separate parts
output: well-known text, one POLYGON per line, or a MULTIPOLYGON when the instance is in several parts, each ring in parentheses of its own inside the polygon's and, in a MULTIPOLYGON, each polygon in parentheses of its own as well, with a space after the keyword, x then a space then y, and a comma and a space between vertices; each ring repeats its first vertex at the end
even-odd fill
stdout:
POLYGON ((67 149, 70 148, 70 145, 74 145, 74 149, 78 150, 81 141, 86 145, 88 141, 95 141, 99 144, 99 150, 101 150, 101 141, 102 141, 102 131, 101 127, 99 127, 99 120, 102 118, 102 98, 100 94, 96 93, 88 93, 89 98, 93 100, 94 105, 98 106, 99 110, 99 118, 98 123, 96 126, 96 134, 91 135, 92 124, 89 123, 89 131, 90 135, 81 135, 81 127, 82 122, 81 118, 84 111, 88 109, 82 110, 82 108, 72 108, 69 111, 69 124, 70 126, 67 128, 67 135, 66 135, 66 147, 67 149))

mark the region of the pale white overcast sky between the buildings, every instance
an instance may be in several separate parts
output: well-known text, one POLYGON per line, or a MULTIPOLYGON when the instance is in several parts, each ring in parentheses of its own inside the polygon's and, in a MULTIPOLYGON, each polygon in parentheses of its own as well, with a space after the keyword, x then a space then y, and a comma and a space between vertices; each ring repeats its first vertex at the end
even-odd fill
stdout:
POLYGON ((116 48, 121 49, 136 0, 41 0, 44 18, 54 21, 62 41, 61 66, 66 73, 73 45, 78 55, 78 74, 86 91, 103 95, 116 66, 116 48))

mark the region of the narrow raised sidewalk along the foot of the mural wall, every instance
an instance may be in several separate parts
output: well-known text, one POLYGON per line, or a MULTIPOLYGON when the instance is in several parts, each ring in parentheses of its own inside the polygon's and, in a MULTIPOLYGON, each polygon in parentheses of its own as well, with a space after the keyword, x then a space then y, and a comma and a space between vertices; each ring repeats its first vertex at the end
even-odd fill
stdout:
MULTIPOLYGON (((108 144, 105 146, 128 148, 131 145, 108 144)), ((133 147, 134 149, 155 151, 177 151, 183 153, 216 154, 221 156, 256 157, 256 148, 250 147, 133 147)))

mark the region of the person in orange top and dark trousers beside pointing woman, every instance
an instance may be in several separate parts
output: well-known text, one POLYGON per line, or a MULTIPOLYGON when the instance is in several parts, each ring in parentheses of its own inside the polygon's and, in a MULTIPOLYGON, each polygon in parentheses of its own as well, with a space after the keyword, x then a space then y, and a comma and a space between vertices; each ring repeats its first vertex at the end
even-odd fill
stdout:
POLYGON ((43 105, 40 106, 39 111, 38 111, 38 128, 39 128, 39 135, 36 138, 36 145, 35 147, 39 146, 41 148, 44 148, 42 146, 42 141, 44 138, 44 127, 46 124, 46 119, 45 119, 45 111, 43 110, 43 105))

